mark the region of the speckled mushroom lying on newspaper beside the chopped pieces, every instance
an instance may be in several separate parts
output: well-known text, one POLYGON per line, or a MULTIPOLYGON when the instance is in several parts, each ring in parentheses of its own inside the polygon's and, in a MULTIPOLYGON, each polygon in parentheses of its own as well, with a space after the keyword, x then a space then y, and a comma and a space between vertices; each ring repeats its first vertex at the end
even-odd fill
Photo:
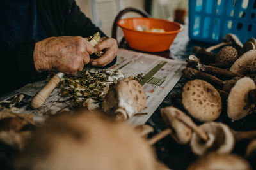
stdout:
POLYGON ((124 78, 109 89, 102 108, 117 120, 126 120, 146 107, 146 94, 136 80, 124 78))

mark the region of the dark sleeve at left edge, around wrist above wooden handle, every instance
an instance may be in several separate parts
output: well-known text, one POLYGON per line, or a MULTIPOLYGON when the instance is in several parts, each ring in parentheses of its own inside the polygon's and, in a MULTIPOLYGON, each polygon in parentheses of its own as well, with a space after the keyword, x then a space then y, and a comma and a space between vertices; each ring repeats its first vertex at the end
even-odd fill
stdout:
POLYGON ((19 89, 27 83, 46 78, 35 70, 33 52, 35 40, 20 43, 12 49, 0 49, 0 94, 19 89))

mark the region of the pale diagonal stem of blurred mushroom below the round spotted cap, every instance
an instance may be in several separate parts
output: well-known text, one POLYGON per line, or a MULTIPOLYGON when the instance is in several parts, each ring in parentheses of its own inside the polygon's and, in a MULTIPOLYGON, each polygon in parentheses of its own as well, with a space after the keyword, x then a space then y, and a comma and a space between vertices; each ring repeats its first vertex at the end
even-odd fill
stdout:
POLYGON ((181 117, 180 115, 176 115, 176 117, 182 121, 184 124, 188 125, 188 127, 190 127, 191 129, 193 129, 193 131, 196 132, 196 134, 198 134, 198 136, 203 139, 204 141, 207 141, 209 138, 207 136, 207 134, 202 131, 202 129, 200 129, 194 122, 193 120, 191 120, 190 117, 181 117))

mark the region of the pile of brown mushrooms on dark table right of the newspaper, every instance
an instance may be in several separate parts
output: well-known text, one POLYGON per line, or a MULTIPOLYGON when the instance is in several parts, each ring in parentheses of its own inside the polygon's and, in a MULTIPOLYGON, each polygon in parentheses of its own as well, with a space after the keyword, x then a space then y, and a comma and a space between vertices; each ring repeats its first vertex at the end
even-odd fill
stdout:
MULTIPOLYGON (((234 131, 227 124, 213 121, 225 114, 232 123, 256 113, 256 39, 242 44, 236 35, 227 34, 219 45, 206 49, 195 46, 193 53, 182 71, 189 81, 182 94, 173 95, 181 98, 186 113, 172 106, 163 108, 161 115, 167 128, 149 143, 170 134, 180 144, 189 143, 195 155, 206 155, 188 169, 252 169, 246 160, 230 153, 236 142, 255 139, 256 129, 234 131)), ((246 151, 250 159, 255 154, 255 143, 246 151)))

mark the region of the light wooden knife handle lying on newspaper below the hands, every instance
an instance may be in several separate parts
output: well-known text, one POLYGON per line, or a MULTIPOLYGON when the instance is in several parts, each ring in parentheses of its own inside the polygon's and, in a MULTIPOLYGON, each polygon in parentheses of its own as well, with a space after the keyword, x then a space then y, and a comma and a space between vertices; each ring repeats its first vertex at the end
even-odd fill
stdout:
POLYGON ((31 101, 31 108, 37 109, 42 106, 47 97, 55 89, 55 87, 60 83, 61 78, 64 76, 64 73, 57 73, 54 75, 51 80, 41 89, 36 96, 31 101))

